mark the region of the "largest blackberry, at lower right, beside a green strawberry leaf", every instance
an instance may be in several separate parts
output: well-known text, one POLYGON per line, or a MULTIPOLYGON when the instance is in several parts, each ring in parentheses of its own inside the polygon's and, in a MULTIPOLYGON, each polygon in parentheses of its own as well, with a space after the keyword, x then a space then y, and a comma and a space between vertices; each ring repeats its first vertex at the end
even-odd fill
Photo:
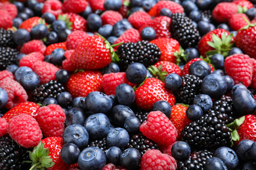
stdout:
POLYGON ((192 149, 215 149, 221 146, 231 146, 231 133, 224 122, 228 116, 224 113, 209 110, 196 122, 191 122, 181 131, 182 141, 192 149))

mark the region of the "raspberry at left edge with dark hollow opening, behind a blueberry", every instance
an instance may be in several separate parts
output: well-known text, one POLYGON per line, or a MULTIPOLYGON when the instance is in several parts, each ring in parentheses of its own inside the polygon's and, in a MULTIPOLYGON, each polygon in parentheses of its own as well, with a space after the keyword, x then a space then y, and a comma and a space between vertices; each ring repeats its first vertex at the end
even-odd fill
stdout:
POLYGON ((3 78, 3 80, 0 80, 0 87, 7 92, 9 97, 7 105, 5 105, 7 109, 11 109, 18 105, 18 103, 22 103, 28 99, 26 90, 24 90, 20 83, 11 78, 3 78))

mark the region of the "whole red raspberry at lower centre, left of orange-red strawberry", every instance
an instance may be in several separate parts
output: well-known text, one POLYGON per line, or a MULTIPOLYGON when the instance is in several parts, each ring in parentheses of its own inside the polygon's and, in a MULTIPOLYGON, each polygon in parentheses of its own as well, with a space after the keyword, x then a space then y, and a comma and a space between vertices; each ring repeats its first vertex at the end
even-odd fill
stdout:
POLYGON ((148 139, 163 145, 172 144, 178 135, 173 123, 160 111, 150 112, 140 126, 140 131, 148 139))

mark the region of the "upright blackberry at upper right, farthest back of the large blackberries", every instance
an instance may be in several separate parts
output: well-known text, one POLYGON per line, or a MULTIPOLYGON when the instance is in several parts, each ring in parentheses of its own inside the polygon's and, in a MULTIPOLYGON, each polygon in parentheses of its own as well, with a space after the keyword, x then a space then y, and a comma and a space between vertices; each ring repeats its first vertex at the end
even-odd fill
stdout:
POLYGON ((192 20, 181 13, 171 15, 171 36, 179 41, 182 48, 194 47, 201 39, 192 20))

